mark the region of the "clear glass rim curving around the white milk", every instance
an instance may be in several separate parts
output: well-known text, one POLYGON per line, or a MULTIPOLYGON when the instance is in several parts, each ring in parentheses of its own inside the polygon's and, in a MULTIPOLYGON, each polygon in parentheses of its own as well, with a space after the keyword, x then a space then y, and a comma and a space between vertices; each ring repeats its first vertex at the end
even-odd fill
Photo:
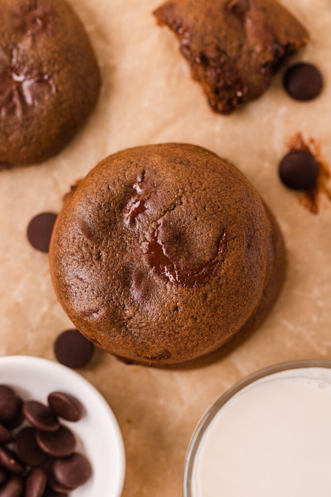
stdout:
POLYGON ((307 361, 292 361, 284 362, 282 364, 277 364, 275 366, 270 366, 256 373, 253 373, 243 380, 239 381, 232 388, 227 390, 221 397, 219 397, 214 404, 207 410, 207 412, 202 416, 192 438, 188 448, 185 461, 184 470, 184 497, 193 497, 192 494, 192 479, 195 467, 195 458, 198 453, 199 445, 202 437, 222 407, 238 392, 248 387, 252 383, 255 383, 266 376, 273 375, 275 373, 280 373, 282 371, 291 371, 294 369, 309 369, 309 368, 326 368, 331 369, 331 361, 319 361, 319 360, 307 360, 307 361))

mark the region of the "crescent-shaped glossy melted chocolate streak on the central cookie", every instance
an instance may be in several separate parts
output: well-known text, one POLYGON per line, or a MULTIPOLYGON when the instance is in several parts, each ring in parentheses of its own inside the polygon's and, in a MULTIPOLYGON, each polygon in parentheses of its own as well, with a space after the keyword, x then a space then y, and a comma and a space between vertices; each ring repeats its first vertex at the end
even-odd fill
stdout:
POLYGON ((166 254, 158 230, 154 231, 150 242, 145 244, 145 254, 150 266, 155 272, 171 283, 177 284, 184 288, 193 288, 205 283, 216 270, 218 264, 223 260, 227 251, 227 231, 224 228, 219 239, 217 254, 205 264, 201 264, 195 269, 179 269, 166 254))

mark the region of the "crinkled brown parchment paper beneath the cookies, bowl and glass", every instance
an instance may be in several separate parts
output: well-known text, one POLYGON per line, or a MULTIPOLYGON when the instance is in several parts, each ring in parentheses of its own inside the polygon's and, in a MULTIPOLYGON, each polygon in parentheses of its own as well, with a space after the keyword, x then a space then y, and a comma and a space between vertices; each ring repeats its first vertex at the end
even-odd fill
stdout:
POLYGON ((56 158, 0 174, 0 355, 54 359, 54 337, 68 327, 52 288, 47 255, 25 237, 32 216, 58 212, 70 183, 105 156, 166 141, 210 148, 240 167, 274 211, 288 250, 284 290, 246 342, 212 364, 187 371, 128 366, 98 351, 81 374, 110 403, 124 436, 123 497, 180 497, 185 452, 206 408, 237 380, 264 366, 331 359, 331 204, 312 215, 278 181, 285 143, 301 131, 331 158, 331 4, 284 0, 311 33, 300 58, 323 71, 323 95, 292 101, 277 77, 258 101, 231 117, 213 114, 190 80, 175 37, 155 25, 157 0, 72 0, 103 73, 98 107, 56 158))

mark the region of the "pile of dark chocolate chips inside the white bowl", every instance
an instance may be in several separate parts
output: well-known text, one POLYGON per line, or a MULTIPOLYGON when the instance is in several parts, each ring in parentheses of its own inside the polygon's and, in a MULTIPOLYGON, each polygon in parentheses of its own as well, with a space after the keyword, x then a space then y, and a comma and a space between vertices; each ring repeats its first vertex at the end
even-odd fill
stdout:
POLYGON ((59 421, 79 421, 81 404, 62 392, 48 404, 23 402, 0 385, 0 497, 66 497, 90 478, 89 461, 59 421))

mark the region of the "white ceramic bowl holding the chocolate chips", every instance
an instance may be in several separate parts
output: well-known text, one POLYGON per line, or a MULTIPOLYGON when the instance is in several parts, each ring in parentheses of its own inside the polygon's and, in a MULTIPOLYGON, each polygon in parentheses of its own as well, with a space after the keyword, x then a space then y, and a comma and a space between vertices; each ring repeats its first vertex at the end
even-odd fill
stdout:
POLYGON ((125 475, 125 452, 119 425, 99 392, 82 376, 56 362, 27 356, 0 357, 0 384, 14 388, 23 399, 46 403, 51 392, 74 395, 85 414, 77 423, 63 420, 77 438, 77 451, 93 468, 92 478, 72 497, 119 497, 125 475))

